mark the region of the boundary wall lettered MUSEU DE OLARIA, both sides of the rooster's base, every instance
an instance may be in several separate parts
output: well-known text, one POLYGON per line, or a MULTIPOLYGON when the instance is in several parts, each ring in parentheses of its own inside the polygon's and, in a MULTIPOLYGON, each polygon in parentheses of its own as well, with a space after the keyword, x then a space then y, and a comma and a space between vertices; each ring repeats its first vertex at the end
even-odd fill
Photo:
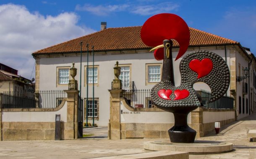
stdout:
MULTIPOLYGON (((120 97, 121 91, 110 90, 110 94, 110 139, 169 138, 167 131, 174 125, 172 113, 159 108, 132 108, 120 97)), ((215 122, 223 126, 232 121, 235 110, 197 108, 188 114, 188 126, 197 132, 196 137, 214 131, 215 122)))

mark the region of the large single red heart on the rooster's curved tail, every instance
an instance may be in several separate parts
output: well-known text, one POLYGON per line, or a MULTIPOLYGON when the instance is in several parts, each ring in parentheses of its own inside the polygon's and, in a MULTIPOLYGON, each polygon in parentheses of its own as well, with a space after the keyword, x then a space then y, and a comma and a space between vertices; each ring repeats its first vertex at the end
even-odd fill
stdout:
POLYGON ((193 72, 198 74, 197 79, 206 76, 212 71, 213 63, 211 59, 193 59, 189 63, 189 67, 193 72))

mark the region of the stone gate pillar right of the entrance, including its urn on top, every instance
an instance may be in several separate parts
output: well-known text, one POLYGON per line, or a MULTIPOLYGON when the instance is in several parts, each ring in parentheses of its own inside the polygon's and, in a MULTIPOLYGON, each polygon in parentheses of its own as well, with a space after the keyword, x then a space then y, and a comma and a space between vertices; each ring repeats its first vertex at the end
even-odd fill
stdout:
POLYGON ((122 82, 119 79, 121 67, 114 67, 115 79, 112 82, 112 90, 110 92, 110 123, 109 123, 109 139, 121 139, 120 125, 120 97, 123 96, 122 82))

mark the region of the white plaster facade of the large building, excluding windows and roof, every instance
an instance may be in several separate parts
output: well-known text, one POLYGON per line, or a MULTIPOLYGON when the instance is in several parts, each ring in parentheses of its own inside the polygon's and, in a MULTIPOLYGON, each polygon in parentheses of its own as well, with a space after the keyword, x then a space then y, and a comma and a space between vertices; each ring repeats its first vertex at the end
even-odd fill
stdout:
MULTIPOLYGON (((210 50, 219 54, 225 59, 224 50, 210 50)), ((187 51, 185 54, 190 53, 187 51)), ((175 60, 178 52, 173 52, 173 64, 175 74, 175 85, 180 85, 180 60, 175 60)), ((185 55, 183 55, 185 56, 185 55)), ((227 51, 227 64, 229 66, 229 51, 227 51)), ((111 89, 111 82, 114 79, 113 67, 116 61, 119 64, 131 64, 131 81, 135 82, 137 89, 151 89, 154 85, 146 85, 146 64, 162 63, 154 59, 154 55, 149 52, 139 54, 119 54, 119 55, 100 55, 94 56, 94 64, 99 65, 99 86, 94 87, 94 97, 99 98, 99 120, 95 120, 98 126, 107 126, 110 115, 110 95, 108 90, 111 89)), ((78 88, 80 83, 80 56, 76 57, 59 57, 59 58, 41 58, 40 59, 40 90, 67 90, 68 86, 56 87, 56 68, 72 66, 75 62, 77 68, 76 80, 78 80, 78 88)), ((89 56, 89 65, 92 65, 92 56, 89 56)), ((82 57, 82 87, 81 96, 86 98, 86 85, 84 85, 84 66, 87 66, 87 55, 82 57)), ((206 89, 204 87, 196 86, 196 90, 206 89)), ((208 90, 209 91, 209 90, 208 90)), ((229 95, 229 90, 227 91, 229 95)), ((89 97, 92 97, 92 86, 89 86, 89 97)), ((157 112, 158 113, 158 112, 157 112)), ((92 121, 89 121, 92 123, 92 121)))

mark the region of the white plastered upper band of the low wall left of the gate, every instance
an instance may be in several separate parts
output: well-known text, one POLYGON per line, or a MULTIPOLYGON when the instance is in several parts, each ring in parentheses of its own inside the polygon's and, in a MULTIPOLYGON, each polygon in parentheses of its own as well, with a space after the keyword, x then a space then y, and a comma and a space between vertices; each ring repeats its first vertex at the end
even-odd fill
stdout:
POLYGON ((45 112, 2 112, 3 122, 55 122, 55 115, 60 114, 60 121, 67 122, 67 102, 60 110, 45 112))

